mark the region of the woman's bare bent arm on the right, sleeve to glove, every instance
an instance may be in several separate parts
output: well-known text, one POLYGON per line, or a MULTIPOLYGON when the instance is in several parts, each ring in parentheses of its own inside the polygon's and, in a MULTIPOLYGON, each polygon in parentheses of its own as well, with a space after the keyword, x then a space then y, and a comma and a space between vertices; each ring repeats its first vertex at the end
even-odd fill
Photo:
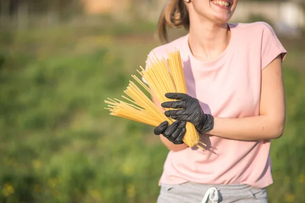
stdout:
POLYGON ((279 55, 262 70, 259 116, 216 117, 214 128, 208 134, 242 141, 277 139, 284 131, 285 113, 282 60, 279 55))

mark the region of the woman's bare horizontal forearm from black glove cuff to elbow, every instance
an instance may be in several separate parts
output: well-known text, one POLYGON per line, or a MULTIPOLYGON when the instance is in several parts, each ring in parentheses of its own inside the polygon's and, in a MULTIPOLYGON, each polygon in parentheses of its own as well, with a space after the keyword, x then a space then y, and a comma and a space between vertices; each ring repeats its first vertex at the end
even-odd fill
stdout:
POLYGON ((214 128, 208 134, 221 138, 258 141, 282 136, 285 119, 261 115, 246 118, 214 118, 214 128))

